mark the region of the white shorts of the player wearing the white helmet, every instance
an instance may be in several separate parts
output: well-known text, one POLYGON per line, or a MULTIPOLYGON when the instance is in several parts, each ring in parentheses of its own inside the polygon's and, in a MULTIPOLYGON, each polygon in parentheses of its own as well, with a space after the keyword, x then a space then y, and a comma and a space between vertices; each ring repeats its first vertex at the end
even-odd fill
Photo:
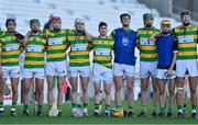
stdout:
POLYGON ((69 67, 69 77, 90 77, 90 66, 69 67))

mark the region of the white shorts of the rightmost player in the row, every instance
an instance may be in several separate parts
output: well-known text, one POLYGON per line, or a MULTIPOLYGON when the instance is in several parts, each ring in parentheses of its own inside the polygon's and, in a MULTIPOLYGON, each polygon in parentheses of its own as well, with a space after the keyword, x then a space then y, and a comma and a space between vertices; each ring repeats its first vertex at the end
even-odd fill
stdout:
POLYGON ((187 71, 189 73, 189 77, 198 76, 197 59, 176 61, 176 76, 177 77, 185 77, 187 71))

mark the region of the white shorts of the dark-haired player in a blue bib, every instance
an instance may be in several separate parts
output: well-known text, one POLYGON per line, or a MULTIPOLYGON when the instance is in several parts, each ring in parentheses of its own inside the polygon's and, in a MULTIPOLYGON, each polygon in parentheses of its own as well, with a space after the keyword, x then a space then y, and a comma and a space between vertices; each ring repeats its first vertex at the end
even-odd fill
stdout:
POLYGON ((134 77, 135 76, 135 67, 131 66, 131 65, 114 63, 113 76, 134 77))

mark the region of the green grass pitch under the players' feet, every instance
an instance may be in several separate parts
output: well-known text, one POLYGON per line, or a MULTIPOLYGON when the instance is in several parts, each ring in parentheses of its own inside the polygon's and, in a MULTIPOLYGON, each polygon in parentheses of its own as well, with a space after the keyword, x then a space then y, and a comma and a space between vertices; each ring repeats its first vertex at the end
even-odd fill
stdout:
MULTIPOLYGON (((114 102, 112 102, 114 104, 114 102)), ((127 104, 123 103, 123 107, 127 104)), ((134 113, 138 115, 141 111, 141 103, 136 101, 134 104, 134 113)), ((178 120, 176 107, 174 109, 175 117, 174 118, 161 118, 161 117, 95 117, 94 113, 94 102, 89 104, 89 117, 70 117, 70 103, 65 103, 63 106, 63 116, 62 117, 48 117, 46 116, 47 106, 43 109, 43 116, 22 116, 23 106, 18 106, 16 113, 18 116, 10 116, 10 107, 6 106, 4 116, 0 117, 0 124, 198 124, 198 121, 191 120, 190 117, 190 104, 188 103, 188 116, 184 120, 178 120)), ((32 111, 31 111, 32 112, 32 111)), ((152 113, 152 103, 148 103, 147 114, 152 113)))

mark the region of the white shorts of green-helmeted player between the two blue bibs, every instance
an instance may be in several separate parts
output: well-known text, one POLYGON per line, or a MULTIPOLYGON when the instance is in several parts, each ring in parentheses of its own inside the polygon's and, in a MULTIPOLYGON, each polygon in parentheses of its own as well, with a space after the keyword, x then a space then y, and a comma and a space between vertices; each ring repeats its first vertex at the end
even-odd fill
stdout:
POLYGON ((153 77, 156 78, 157 70, 157 61, 140 61, 140 77, 147 78, 153 77))

